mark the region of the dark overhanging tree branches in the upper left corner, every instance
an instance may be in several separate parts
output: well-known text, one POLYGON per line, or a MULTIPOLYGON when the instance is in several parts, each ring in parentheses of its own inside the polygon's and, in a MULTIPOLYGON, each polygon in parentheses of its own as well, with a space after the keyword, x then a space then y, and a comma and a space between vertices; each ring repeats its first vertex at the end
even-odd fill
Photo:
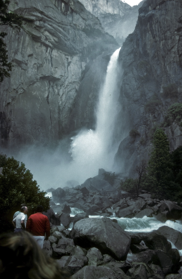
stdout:
MULTIPOLYGON (((13 29, 18 29, 22 26, 24 17, 8 11, 9 0, 0 0, 0 25, 8 25, 13 29)), ((6 44, 3 38, 7 35, 6 32, 0 32, 0 82, 4 77, 10 77, 12 63, 8 62, 6 44)))

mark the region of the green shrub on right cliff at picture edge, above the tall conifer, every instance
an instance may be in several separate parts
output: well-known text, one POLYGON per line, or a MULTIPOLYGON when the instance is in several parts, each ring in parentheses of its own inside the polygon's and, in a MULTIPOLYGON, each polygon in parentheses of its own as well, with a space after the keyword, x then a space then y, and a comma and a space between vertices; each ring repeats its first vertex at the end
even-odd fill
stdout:
POLYGON ((164 117, 164 126, 170 126, 174 121, 181 122, 182 119, 182 104, 174 103, 167 109, 167 114, 164 117))

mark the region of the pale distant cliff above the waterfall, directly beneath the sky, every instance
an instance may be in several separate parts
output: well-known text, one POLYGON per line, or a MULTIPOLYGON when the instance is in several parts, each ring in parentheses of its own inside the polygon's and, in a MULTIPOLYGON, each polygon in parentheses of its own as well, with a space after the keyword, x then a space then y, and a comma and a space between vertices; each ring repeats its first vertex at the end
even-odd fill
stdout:
POLYGON ((106 32, 122 45, 128 34, 135 29, 138 6, 131 7, 121 0, 80 0, 85 8, 101 21, 106 32))

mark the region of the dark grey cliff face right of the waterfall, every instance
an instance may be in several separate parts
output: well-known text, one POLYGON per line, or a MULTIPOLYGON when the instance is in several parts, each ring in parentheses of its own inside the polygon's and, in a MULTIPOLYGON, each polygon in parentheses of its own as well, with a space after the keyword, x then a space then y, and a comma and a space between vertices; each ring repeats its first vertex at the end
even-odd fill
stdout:
POLYGON ((181 15, 180 1, 147 0, 139 9, 134 33, 121 48, 122 131, 126 135, 132 129, 138 131, 134 137, 125 137, 115 156, 126 175, 133 175, 136 165, 148 158, 157 126, 164 128, 171 151, 182 144, 181 114, 165 117, 170 117, 167 109, 172 104, 182 102, 181 15), (171 84, 174 92, 170 89, 172 93, 164 95, 171 84))

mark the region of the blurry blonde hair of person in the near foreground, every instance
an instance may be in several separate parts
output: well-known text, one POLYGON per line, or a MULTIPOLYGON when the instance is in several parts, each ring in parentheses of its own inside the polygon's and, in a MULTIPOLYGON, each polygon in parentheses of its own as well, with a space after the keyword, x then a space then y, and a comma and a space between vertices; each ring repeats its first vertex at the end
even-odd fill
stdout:
POLYGON ((0 259, 3 267, 1 278, 2 275, 16 279, 67 278, 55 260, 47 256, 31 234, 25 231, 0 236, 0 259))

